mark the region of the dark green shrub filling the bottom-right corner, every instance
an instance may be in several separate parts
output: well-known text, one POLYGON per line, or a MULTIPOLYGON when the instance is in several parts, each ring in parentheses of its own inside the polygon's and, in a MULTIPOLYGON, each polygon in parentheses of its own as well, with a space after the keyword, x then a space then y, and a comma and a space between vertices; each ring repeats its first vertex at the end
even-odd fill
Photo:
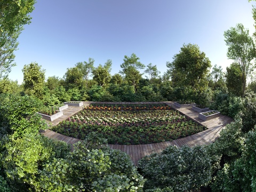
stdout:
POLYGON ((214 178, 213 191, 255 191, 256 153, 255 130, 249 131, 244 142, 242 156, 225 164, 214 178))

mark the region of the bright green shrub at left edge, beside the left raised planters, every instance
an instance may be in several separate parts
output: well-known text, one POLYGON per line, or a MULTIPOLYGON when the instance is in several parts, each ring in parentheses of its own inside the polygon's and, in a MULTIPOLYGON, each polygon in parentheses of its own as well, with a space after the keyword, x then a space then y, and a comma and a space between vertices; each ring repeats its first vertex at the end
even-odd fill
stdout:
POLYGON ((22 137, 25 133, 37 134, 40 129, 44 130, 39 115, 35 115, 42 103, 34 97, 23 97, 12 94, 1 95, 0 125, 15 137, 22 137))

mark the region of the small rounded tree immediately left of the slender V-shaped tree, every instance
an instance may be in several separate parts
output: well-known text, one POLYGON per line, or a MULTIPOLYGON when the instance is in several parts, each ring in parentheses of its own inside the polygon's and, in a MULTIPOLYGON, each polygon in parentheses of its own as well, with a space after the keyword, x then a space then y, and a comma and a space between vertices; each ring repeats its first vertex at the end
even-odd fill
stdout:
POLYGON ((68 68, 64 75, 67 89, 81 88, 83 82, 82 71, 78 67, 68 68))

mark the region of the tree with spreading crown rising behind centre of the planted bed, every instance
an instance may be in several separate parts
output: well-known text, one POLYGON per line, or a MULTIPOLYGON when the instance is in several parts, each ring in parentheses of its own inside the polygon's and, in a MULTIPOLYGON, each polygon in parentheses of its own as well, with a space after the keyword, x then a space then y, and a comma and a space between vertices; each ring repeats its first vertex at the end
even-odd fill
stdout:
POLYGON ((145 68, 134 53, 132 53, 131 57, 124 56, 124 62, 121 65, 122 71, 121 74, 125 75, 126 81, 134 86, 134 90, 136 90, 136 85, 139 83, 139 80, 142 76, 138 69, 145 68))

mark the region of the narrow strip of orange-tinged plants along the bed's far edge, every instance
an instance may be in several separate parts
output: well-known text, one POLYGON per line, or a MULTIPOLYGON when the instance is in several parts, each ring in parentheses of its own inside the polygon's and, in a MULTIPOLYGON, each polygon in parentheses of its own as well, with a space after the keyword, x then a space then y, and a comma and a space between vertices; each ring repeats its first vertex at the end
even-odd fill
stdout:
POLYGON ((166 110, 172 109, 169 105, 164 103, 157 103, 157 104, 139 104, 139 105, 124 105, 124 104, 96 104, 93 103, 85 109, 89 110, 130 110, 130 111, 138 111, 138 110, 166 110))

